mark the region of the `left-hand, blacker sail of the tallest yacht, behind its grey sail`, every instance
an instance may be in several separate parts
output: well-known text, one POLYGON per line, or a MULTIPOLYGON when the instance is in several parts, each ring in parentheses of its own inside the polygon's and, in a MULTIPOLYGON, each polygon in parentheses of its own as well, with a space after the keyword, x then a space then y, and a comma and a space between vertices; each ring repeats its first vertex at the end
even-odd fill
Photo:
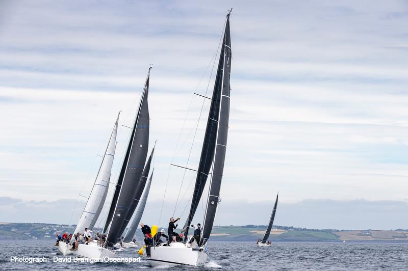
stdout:
MULTIPOLYGON (((224 42, 225 42, 225 36, 224 36, 224 42)), ((197 210, 198 204, 200 203, 202 192, 206 185, 208 175, 210 173, 211 165, 213 163, 214 154, 215 154, 215 144, 217 141, 218 118, 219 118, 221 90, 222 90, 223 72, 222 71, 220 72, 220 70, 222 69, 222 66, 223 66, 224 42, 221 47, 220 58, 218 61, 217 75, 215 77, 213 96, 211 99, 210 112, 208 114, 207 128, 206 128, 206 133, 204 136, 204 142, 202 144, 202 149, 201 149, 201 156, 200 156, 200 161, 199 161, 198 170, 197 170, 197 177, 195 180, 193 197, 191 199, 190 212, 189 212, 186 224, 184 224, 184 227, 183 227, 183 231, 185 231, 185 234, 184 234, 185 241, 187 241, 188 230, 191 225, 191 221, 193 220, 195 211, 197 210)))

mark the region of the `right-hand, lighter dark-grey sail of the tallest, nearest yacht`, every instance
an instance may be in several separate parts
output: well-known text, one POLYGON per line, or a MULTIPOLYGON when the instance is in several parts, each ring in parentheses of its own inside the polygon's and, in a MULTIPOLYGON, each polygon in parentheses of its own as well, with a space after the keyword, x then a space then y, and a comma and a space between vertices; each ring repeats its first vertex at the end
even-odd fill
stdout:
POLYGON ((210 192, 207 202, 205 221, 202 229, 200 246, 205 245, 210 238, 213 228, 215 213, 219 202, 219 194, 224 171, 224 161, 226 153, 226 143, 228 138, 228 121, 230 119, 230 72, 231 72, 231 37, 230 37, 230 13, 227 14, 224 40, 221 48, 222 69, 217 73, 222 73, 221 104, 218 120, 217 144, 215 148, 214 166, 212 172, 210 192))

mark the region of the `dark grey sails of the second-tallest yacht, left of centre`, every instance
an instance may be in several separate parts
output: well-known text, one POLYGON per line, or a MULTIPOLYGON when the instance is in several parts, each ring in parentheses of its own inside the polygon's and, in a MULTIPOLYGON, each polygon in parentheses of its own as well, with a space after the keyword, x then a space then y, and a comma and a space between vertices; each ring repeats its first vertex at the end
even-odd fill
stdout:
POLYGON ((148 89, 150 69, 147 73, 146 83, 143 88, 139 110, 136 114, 132 128, 131 138, 123 159, 122 169, 116 185, 114 198, 105 224, 105 230, 109 225, 106 245, 112 247, 120 237, 120 230, 129 211, 130 202, 142 174, 146 162, 149 141, 149 111, 148 111, 148 89))

